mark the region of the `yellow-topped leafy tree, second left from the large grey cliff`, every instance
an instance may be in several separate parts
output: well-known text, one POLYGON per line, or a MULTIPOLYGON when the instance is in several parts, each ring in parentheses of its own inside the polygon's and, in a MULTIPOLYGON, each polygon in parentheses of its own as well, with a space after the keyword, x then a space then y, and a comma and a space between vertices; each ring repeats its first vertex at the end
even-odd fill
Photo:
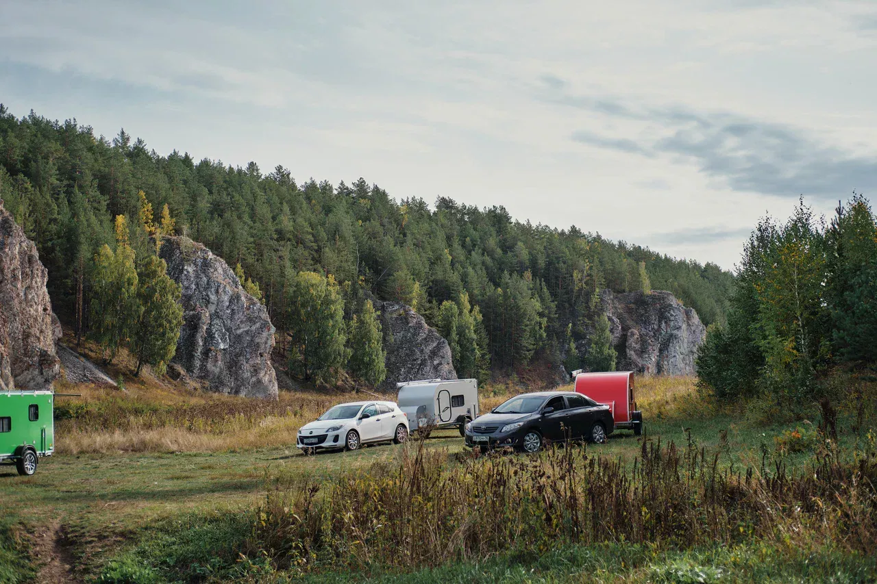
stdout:
POLYGON ((103 246, 95 258, 91 284, 91 336, 109 360, 128 342, 139 319, 138 278, 134 251, 120 244, 103 246))

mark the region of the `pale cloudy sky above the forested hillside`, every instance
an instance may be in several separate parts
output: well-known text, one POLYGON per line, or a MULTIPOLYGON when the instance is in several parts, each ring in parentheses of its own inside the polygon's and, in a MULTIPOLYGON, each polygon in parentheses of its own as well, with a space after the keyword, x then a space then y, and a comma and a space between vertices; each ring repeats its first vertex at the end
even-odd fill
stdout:
POLYGON ((877 1, 0 2, 0 103, 731 269, 877 191, 877 1))

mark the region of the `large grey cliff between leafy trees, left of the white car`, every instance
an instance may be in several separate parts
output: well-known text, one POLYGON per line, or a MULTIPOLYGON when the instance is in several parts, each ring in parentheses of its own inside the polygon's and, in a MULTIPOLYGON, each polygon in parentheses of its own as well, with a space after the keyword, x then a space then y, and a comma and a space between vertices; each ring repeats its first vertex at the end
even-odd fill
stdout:
POLYGON ((206 247, 168 238, 160 256, 182 287, 183 325, 174 362, 211 391, 277 398, 275 328, 232 269, 206 247))

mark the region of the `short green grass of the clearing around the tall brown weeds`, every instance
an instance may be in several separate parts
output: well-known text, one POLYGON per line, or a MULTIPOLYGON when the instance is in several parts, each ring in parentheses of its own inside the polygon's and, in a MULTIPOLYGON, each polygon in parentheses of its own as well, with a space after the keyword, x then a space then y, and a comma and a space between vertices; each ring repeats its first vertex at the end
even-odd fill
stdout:
MULTIPOLYGON (((686 415, 663 410, 647 419, 645 439, 677 445, 688 440, 720 452, 722 466, 761 464, 777 457, 774 437, 798 424, 755 425, 729 415, 686 415)), ((859 434, 846 433, 848 447, 859 434)), ((58 438, 63 439, 63 436, 58 438)), ((591 447, 630 464, 642 441, 619 432, 609 444, 591 447)), ((430 449, 463 452, 455 431, 439 432, 430 449)), ((401 447, 378 445, 360 452, 328 452, 305 457, 295 447, 236 452, 142 452, 61 454, 40 461, 36 475, 19 477, 0 466, 0 582, 34 577, 39 559, 28 555, 23 533, 40 533, 61 522, 73 543, 77 573, 99 581, 284 581, 258 550, 246 548, 253 509, 269 488, 304 478, 328 481, 377 461, 392 462, 401 447), (244 552, 246 559, 240 553, 244 552)), ((783 457, 804 466, 813 452, 783 457)), ((831 542, 812 549, 788 549, 752 541, 734 549, 686 552, 643 545, 561 546, 543 555, 503 553, 479 562, 410 573, 372 566, 367 573, 336 573, 324 566, 299 577, 307 582, 567 582, 696 581, 721 570, 721 581, 867 581, 877 578, 873 558, 835 550, 831 542), (711 571, 713 570, 713 571, 711 571), (788 577, 784 577, 788 576, 788 577), (692 580, 695 578, 695 580, 692 580)), ((296 580, 298 581, 298 580, 296 580)), ((708 581, 708 580, 707 580, 708 581)))

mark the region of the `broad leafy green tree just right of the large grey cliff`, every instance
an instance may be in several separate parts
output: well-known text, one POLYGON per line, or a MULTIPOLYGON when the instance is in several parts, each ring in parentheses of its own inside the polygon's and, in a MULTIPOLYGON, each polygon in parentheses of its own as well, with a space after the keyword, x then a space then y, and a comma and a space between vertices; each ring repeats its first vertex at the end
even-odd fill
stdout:
POLYGON ((293 356, 289 366, 316 383, 333 383, 346 365, 344 301, 329 275, 299 272, 289 287, 289 333, 293 356))

